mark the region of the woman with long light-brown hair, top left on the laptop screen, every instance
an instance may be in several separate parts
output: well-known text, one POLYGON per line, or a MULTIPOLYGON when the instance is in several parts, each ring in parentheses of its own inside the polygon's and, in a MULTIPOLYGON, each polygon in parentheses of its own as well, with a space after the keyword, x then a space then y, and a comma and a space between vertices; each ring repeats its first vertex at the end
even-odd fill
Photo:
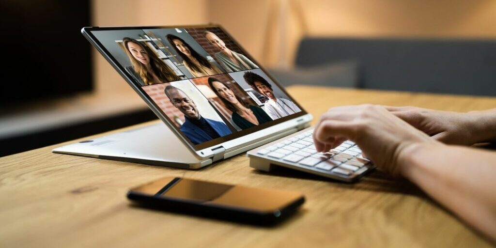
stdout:
POLYGON ((132 68, 126 67, 126 70, 141 86, 182 80, 155 52, 141 42, 124 37, 123 46, 132 64, 132 68))

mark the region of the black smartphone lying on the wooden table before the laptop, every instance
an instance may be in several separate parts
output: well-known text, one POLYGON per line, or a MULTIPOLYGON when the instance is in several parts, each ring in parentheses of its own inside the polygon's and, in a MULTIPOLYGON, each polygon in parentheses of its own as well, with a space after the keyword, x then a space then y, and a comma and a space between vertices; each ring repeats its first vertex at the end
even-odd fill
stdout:
POLYGON ((163 178, 132 188, 127 198, 154 209, 258 225, 276 224, 305 202, 295 191, 186 178, 163 178))

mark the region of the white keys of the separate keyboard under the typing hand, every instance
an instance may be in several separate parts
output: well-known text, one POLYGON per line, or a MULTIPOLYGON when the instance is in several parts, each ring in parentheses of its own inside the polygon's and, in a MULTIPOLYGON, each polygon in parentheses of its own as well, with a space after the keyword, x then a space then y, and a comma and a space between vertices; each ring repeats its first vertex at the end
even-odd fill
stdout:
POLYGON ((317 152, 312 132, 313 129, 263 147, 256 151, 256 155, 307 171, 310 169, 318 174, 332 175, 331 178, 338 180, 361 176, 373 167, 370 160, 362 156, 362 150, 350 140, 329 152, 317 152))

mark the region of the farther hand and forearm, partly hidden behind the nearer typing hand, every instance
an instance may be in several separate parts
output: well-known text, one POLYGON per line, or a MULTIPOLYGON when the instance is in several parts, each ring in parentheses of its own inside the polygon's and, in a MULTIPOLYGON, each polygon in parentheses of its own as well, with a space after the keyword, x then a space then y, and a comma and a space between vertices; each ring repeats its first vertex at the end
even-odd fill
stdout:
MULTIPOLYGON (((491 139, 494 135, 490 131, 491 128, 488 130, 490 126, 488 121, 483 120, 489 117, 485 115, 488 112, 457 113, 416 107, 385 106, 385 108, 403 121, 446 144, 473 145, 491 139)), ((496 126, 495 122, 493 126, 496 126)))

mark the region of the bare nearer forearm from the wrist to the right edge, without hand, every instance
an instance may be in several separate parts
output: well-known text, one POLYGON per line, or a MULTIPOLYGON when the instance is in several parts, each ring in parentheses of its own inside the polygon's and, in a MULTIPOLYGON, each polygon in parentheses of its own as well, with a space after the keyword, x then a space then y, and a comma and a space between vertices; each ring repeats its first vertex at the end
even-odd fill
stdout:
POLYGON ((403 154, 405 178, 496 241, 496 152, 416 144, 403 154))

